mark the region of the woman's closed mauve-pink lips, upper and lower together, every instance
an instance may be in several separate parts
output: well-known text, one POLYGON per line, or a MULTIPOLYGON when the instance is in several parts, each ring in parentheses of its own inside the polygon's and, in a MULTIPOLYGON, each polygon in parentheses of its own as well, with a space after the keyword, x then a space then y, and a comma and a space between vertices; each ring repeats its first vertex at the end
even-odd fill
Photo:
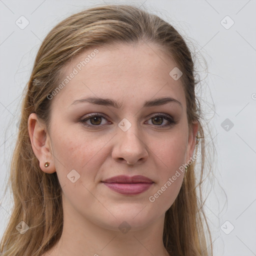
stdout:
POLYGON ((139 194, 154 183, 150 178, 142 175, 118 175, 102 181, 110 189, 121 194, 139 194))

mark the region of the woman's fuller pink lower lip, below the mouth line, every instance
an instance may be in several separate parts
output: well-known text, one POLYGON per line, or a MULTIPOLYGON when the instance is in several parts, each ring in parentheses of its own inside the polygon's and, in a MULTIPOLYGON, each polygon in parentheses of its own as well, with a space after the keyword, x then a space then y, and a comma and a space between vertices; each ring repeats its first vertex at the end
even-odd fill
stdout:
POLYGON ((121 194, 139 194, 146 191, 152 184, 151 183, 106 183, 103 182, 110 189, 121 194))

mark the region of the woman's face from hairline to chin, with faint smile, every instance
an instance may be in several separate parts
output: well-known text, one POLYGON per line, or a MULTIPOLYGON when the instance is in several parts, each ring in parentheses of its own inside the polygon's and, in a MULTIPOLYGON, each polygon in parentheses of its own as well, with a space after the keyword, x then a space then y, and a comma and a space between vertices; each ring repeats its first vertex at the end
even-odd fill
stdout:
POLYGON ((49 96, 49 169, 37 155, 43 171, 57 173, 64 211, 112 230, 123 221, 139 229, 175 200, 184 172, 172 177, 192 156, 198 126, 188 129, 181 79, 169 75, 176 64, 156 45, 95 48, 68 63, 60 83, 70 79, 49 96), (117 175, 144 178, 103 182, 117 175))

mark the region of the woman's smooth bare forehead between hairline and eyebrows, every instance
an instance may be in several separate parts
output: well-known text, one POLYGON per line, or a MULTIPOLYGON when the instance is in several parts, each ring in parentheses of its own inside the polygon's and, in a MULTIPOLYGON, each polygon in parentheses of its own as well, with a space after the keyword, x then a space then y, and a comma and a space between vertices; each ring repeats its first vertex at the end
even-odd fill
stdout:
POLYGON ((129 103, 171 96, 185 103, 181 79, 169 72, 176 67, 158 45, 134 43, 90 47, 63 68, 62 89, 54 100, 71 104, 85 96, 108 97, 129 103))

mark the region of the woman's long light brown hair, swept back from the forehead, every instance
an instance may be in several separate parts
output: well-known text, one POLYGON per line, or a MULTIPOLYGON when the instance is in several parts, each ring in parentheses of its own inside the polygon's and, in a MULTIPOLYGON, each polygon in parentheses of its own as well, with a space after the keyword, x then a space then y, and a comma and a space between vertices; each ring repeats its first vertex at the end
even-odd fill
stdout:
POLYGON ((163 244, 170 255, 212 255, 201 189, 205 161, 204 131, 200 103, 195 96, 198 81, 195 81, 190 50, 183 37, 168 22, 125 4, 94 6, 72 14, 54 26, 40 45, 24 89, 18 137, 10 163, 7 185, 11 186, 14 206, 0 243, 2 255, 39 256, 52 248, 62 233, 61 187, 56 172, 45 173, 39 167, 27 128, 30 113, 36 113, 48 127, 51 100, 47 95, 59 83, 60 73, 71 58, 90 47, 139 42, 154 43, 174 59, 182 71, 180 79, 186 98, 188 125, 191 127, 193 121, 199 122, 199 175, 195 175, 193 161, 184 174, 175 201, 165 212, 163 244), (22 220, 29 226, 23 234, 16 229, 22 220))

